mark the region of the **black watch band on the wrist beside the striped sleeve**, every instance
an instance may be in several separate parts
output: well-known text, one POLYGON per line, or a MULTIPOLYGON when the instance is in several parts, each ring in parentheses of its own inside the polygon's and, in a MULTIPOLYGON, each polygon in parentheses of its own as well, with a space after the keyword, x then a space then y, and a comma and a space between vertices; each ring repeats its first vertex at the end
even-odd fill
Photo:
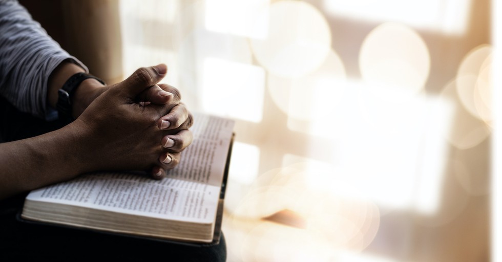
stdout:
POLYGON ((59 120, 71 121, 72 117, 72 98, 75 90, 80 85, 83 80, 88 78, 94 78, 100 83, 105 84, 103 80, 86 73, 76 73, 72 75, 61 89, 57 91, 57 103, 56 109, 58 113, 59 120))

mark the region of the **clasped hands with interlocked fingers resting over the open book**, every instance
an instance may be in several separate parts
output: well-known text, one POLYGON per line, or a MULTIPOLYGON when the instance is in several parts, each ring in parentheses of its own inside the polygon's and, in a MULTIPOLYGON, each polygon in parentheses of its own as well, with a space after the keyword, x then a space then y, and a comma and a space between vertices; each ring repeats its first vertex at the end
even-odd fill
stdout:
POLYGON ((187 128, 193 117, 179 103, 175 88, 156 85, 165 73, 162 64, 137 70, 123 82, 110 86, 71 124, 73 132, 87 138, 79 146, 93 152, 83 156, 89 171, 152 170, 160 171, 160 178, 164 170, 178 164, 179 153, 192 142, 187 128), (144 103, 148 99, 155 102, 162 92, 172 94, 165 96, 168 103, 144 103))

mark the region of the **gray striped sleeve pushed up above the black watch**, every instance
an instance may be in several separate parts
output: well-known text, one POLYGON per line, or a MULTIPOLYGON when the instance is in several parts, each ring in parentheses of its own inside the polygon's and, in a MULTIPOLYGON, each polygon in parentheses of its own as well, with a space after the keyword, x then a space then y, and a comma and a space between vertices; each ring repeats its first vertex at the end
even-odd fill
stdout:
POLYGON ((57 65, 71 59, 17 1, 0 0, 0 95, 18 110, 40 118, 53 113, 47 83, 57 65))

